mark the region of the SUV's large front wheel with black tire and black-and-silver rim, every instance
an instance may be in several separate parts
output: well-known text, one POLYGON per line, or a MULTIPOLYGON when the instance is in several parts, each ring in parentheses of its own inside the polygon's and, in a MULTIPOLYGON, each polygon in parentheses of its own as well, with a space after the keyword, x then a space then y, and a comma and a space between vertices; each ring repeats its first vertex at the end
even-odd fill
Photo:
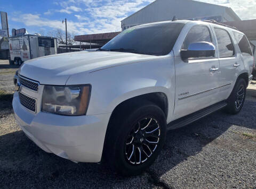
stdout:
POLYGON ((123 115, 119 111, 111 119, 112 123, 110 121, 105 158, 118 173, 139 175, 153 164, 163 147, 166 117, 162 109, 151 102, 140 102, 140 105, 133 108, 126 106, 125 109, 123 115))

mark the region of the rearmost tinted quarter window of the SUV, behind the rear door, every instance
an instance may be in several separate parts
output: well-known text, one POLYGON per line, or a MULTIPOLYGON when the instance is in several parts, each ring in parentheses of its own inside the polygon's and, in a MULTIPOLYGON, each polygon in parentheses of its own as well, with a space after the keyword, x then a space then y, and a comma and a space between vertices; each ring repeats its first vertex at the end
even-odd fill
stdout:
POLYGON ((243 55, 252 56, 251 46, 249 44, 249 41, 245 37, 245 35, 243 35, 241 33, 237 33, 237 32, 233 32, 233 33, 234 33, 235 39, 238 43, 238 46, 241 50, 241 53, 243 53, 243 55))

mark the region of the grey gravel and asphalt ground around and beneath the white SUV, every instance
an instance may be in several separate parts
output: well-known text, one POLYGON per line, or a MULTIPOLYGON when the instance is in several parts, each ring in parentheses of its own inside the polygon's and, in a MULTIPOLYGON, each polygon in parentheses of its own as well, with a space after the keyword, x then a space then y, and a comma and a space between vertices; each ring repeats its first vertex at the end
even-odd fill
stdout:
POLYGON ((256 188, 256 91, 238 115, 218 111, 168 132, 153 166, 121 177, 106 165, 75 164, 31 142, 11 106, 17 67, 6 64, 0 61, 0 188, 256 188))

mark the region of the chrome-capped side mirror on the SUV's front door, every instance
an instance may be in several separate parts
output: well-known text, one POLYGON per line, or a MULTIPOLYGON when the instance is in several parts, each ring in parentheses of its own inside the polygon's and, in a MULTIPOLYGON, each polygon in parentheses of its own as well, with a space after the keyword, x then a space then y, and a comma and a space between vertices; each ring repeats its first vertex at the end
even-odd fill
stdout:
POLYGON ((211 42, 193 42, 188 45, 188 49, 182 49, 180 52, 181 58, 187 60, 188 58, 211 57, 215 54, 215 46, 211 42))

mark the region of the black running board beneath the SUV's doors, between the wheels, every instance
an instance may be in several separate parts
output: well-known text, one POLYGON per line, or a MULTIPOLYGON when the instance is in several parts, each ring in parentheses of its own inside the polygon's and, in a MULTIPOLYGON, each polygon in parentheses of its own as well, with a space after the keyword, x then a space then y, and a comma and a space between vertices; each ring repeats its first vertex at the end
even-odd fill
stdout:
POLYGON ((176 119, 167 125, 167 130, 174 130, 176 128, 180 128, 185 125, 188 125, 192 122, 197 121, 198 119, 200 119, 202 117, 205 117, 205 116, 213 113, 214 111, 224 108, 225 106, 227 106, 227 102, 221 101, 221 102, 218 102, 217 104, 214 104, 207 108, 196 111, 195 113, 189 114, 189 115, 181 117, 179 119, 176 119))

